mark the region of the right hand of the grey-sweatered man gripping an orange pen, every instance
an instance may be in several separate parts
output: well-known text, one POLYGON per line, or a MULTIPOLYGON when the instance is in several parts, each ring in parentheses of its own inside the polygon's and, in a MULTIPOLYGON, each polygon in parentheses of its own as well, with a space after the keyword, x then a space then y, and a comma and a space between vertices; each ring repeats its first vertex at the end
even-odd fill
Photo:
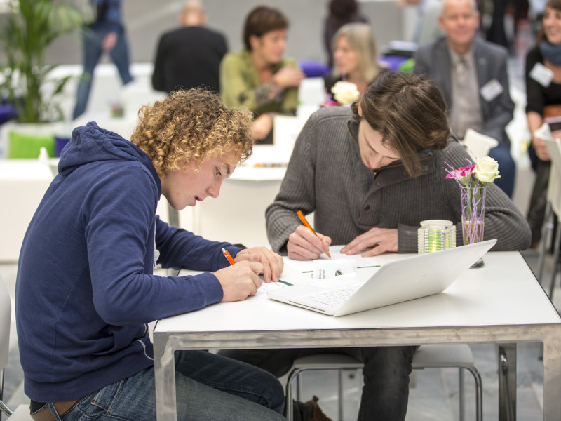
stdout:
POLYGON ((304 218, 302 211, 298 211, 297 215, 304 225, 297 227, 295 232, 288 236, 288 257, 294 260, 313 260, 325 253, 331 258, 330 237, 316 232, 304 218))

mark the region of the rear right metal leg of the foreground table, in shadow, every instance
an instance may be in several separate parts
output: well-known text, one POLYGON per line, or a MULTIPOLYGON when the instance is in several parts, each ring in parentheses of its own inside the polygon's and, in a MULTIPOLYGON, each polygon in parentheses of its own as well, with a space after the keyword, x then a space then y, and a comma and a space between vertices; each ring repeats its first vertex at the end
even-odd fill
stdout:
POLYGON ((516 420, 516 344, 499 345, 499 421, 516 420))

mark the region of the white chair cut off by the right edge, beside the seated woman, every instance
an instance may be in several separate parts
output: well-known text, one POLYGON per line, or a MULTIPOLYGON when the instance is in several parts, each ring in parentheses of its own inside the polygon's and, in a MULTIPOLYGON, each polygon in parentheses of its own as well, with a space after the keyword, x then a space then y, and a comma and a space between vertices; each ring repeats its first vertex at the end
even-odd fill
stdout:
POLYGON ((553 247, 553 269, 549 286, 549 299, 553 300, 553 287, 555 286, 555 276, 557 276, 560 250, 561 250, 561 140, 553 139, 549 126, 545 123, 534 135, 546 142, 549 155, 551 157, 551 167, 549 171, 546 215, 543 222, 541 244, 538 258, 538 279, 543 285, 543 267, 546 259, 546 248, 553 233, 553 218, 557 218, 557 233, 555 234, 555 246, 553 247), (557 215, 557 216, 555 216, 557 215))

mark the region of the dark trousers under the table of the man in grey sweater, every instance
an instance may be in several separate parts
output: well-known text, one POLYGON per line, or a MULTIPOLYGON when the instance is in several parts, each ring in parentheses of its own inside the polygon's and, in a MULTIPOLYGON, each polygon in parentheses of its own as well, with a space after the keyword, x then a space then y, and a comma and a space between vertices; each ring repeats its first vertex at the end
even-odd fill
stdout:
MULTIPOLYGON (((218 354, 252 364, 280 377, 295 359, 323 353, 349 354, 364 363, 358 421, 403 421, 409 400, 409 375, 417 347, 222 350, 218 354)), ((310 396, 311 397, 311 396, 310 396)), ((295 411, 302 406, 295 406, 295 411)), ((328 414, 327 414, 328 415, 328 414)), ((295 419, 309 420, 295 414, 295 419)))

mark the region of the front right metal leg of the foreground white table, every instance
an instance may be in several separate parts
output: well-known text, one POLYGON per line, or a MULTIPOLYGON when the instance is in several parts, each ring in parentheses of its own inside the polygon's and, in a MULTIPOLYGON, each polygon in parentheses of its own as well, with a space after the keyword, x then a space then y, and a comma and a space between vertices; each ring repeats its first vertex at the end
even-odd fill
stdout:
POLYGON ((543 340, 543 420, 561 420, 561 338, 543 340))

